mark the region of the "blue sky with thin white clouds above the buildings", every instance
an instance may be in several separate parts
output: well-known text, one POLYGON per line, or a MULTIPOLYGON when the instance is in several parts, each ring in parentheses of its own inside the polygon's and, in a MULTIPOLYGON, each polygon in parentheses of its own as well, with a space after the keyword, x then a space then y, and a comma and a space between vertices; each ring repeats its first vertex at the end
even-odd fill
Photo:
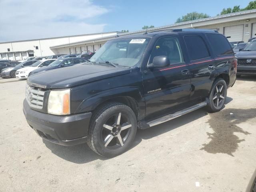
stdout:
POLYGON ((250 0, 0 0, 0 42, 173 24, 197 11, 210 16, 250 0), (179 2, 179 3, 178 3, 179 2))

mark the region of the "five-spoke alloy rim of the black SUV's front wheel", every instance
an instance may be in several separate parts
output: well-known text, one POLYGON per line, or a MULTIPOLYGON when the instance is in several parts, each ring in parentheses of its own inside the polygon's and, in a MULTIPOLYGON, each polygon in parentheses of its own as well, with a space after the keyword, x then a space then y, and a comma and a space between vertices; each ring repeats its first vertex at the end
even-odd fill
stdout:
POLYGON ((118 149, 128 140, 132 124, 125 113, 114 114, 102 126, 102 142, 108 149, 118 149))

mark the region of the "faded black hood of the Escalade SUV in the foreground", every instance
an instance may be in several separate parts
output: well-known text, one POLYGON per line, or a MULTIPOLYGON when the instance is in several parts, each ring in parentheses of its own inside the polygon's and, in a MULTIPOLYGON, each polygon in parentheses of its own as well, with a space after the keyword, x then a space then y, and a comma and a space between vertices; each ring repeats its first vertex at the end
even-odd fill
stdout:
POLYGON ((77 64, 36 74, 28 82, 44 88, 69 88, 130 72, 131 69, 121 67, 77 64))

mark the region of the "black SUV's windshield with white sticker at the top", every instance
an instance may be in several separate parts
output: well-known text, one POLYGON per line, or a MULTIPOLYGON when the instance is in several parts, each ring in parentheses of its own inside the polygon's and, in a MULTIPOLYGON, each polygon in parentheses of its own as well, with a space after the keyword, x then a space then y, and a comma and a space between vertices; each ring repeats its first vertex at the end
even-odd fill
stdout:
POLYGON ((150 38, 126 38, 110 40, 90 59, 91 62, 110 62, 118 66, 132 67, 140 62, 150 38))

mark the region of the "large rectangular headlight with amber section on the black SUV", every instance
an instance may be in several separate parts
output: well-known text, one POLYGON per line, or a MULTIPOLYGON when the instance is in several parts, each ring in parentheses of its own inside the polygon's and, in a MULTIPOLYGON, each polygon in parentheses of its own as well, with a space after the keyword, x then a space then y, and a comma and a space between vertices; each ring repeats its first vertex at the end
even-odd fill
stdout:
POLYGON ((70 89, 50 91, 48 113, 54 115, 70 114, 70 89))

